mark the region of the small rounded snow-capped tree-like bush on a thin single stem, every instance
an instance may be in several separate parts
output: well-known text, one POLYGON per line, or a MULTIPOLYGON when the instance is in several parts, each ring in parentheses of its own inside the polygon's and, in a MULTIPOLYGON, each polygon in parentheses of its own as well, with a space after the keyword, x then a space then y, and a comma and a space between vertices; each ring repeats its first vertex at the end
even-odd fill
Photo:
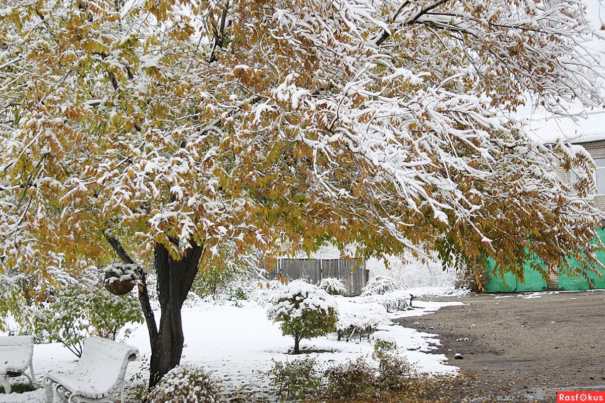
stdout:
POLYGON ((295 280, 281 288, 267 307, 267 317, 280 322, 281 332, 294 338, 294 353, 299 341, 336 330, 336 301, 317 286, 295 280))

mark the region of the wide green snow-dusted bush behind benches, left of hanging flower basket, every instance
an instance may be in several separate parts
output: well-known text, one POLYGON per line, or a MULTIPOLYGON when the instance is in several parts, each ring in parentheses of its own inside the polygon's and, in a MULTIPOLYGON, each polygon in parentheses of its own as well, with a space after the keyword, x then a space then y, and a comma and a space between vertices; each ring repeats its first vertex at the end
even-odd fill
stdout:
POLYGON ((131 294, 113 295, 105 289, 67 285, 53 300, 42 304, 33 320, 34 334, 59 342, 77 356, 91 335, 116 340, 128 323, 142 323, 139 301, 131 294))

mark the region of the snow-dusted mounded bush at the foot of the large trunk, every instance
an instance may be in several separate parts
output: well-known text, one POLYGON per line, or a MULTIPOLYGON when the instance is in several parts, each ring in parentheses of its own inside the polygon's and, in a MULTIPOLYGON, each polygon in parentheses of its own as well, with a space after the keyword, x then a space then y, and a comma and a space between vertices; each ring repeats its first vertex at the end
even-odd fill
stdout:
POLYGON ((149 390, 145 403, 218 403, 218 381, 208 372, 194 366, 178 366, 170 370, 149 390))

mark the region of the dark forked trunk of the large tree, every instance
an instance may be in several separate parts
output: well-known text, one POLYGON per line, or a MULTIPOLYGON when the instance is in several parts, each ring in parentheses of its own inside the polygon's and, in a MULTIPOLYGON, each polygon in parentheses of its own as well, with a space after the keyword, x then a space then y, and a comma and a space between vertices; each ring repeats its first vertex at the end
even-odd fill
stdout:
POLYGON ((157 339, 151 340, 149 387, 153 387, 169 370, 177 366, 183 353, 181 308, 197 274, 203 248, 193 245, 185 256, 174 260, 163 245, 154 252, 157 291, 162 316, 157 339))

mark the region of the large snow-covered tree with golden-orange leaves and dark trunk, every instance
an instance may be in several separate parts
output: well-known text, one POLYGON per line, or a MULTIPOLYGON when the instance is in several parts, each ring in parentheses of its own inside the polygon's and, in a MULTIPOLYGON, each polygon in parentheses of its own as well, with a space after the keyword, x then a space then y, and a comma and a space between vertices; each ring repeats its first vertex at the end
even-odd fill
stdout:
POLYGON ((508 116, 601 106, 596 34, 580 0, 1 0, 1 270, 155 270, 153 385, 223 244, 594 269, 592 161, 508 116))

